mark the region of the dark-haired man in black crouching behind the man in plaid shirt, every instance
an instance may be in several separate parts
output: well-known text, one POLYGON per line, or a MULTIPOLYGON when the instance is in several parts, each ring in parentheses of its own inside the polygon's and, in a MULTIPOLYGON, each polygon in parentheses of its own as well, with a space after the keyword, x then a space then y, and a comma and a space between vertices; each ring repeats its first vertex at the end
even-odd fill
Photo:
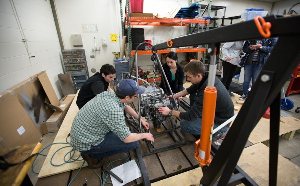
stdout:
POLYGON ((102 65, 100 73, 97 72, 88 78, 80 88, 76 101, 78 108, 82 108, 85 103, 106 90, 113 91, 109 85, 113 82, 115 75, 116 69, 113 65, 102 65))

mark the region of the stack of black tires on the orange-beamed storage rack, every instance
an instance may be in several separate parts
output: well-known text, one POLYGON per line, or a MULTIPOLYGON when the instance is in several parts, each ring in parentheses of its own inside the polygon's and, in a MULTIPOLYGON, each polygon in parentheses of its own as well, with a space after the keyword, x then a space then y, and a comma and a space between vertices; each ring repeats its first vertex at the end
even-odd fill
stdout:
MULTIPOLYGON (((128 43, 128 29, 125 30, 126 43, 128 43)), ((135 50, 140 43, 145 41, 144 28, 131 28, 132 50, 135 50)), ((139 46, 138 50, 145 50, 145 45, 139 46)))

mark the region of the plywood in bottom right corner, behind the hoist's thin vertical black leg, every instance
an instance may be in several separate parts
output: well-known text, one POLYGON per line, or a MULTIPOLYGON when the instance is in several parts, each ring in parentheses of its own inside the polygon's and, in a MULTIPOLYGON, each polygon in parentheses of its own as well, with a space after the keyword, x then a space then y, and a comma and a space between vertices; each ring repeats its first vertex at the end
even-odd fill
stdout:
MULTIPOLYGON (((238 165, 258 184, 268 185, 269 148, 262 143, 243 150, 238 165)), ((299 185, 300 167, 278 155, 277 185, 299 185)))

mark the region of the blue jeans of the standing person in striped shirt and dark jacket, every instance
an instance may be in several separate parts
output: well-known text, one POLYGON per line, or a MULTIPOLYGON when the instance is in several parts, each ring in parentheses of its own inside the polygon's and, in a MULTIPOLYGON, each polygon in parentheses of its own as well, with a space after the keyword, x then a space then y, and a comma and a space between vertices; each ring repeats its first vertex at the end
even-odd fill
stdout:
POLYGON ((245 65, 244 66, 244 83, 243 83, 243 94, 248 95, 248 89, 252 78, 252 85, 255 83, 261 67, 258 64, 245 65))

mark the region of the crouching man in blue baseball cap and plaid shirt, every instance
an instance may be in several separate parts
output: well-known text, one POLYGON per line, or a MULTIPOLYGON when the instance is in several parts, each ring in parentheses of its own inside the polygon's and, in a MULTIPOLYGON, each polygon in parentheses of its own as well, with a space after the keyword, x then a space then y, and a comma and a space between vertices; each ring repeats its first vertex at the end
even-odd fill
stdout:
MULTIPOLYGON (((138 140, 154 142, 150 133, 131 133, 125 124, 124 110, 139 120, 139 115, 126 103, 131 103, 138 94, 145 92, 132 79, 123 79, 117 91, 105 91, 87 102, 76 114, 70 132, 70 144, 81 152, 91 169, 103 165, 103 158, 127 152, 138 146, 138 140)), ((149 124, 142 120, 149 129, 149 124)))

